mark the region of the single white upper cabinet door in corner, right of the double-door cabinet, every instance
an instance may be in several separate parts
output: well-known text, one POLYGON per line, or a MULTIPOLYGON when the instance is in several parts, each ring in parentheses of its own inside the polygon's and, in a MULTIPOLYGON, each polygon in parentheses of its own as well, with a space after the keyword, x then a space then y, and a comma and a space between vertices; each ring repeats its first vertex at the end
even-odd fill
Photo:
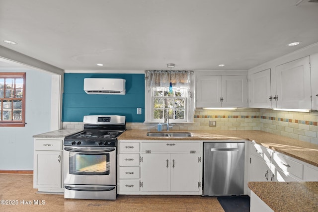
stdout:
POLYGON ((249 75, 249 107, 271 108, 270 69, 249 75))

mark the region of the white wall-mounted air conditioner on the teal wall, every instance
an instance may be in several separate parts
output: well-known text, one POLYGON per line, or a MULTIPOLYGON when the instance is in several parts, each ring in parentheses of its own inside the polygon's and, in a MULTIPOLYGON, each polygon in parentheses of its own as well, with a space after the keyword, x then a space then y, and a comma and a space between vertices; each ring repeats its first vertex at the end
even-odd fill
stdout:
POLYGON ((84 78, 84 91, 87 94, 125 95, 125 79, 84 78))

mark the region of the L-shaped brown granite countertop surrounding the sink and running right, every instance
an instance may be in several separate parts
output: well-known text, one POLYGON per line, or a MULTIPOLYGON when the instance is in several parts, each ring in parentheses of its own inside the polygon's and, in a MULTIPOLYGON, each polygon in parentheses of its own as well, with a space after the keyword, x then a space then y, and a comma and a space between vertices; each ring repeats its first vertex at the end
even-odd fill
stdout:
MULTIPOLYGON (((301 161, 318 166, 318 145, 310 142, 290 139, 263 131, 186 131, 191 137, 149 137, 147 130, 127 130, 118 137, 119 140, 248 140, 255 141, 267 148, 289 155, 301 161)), ((162 131, 166 132, 166 131, 162 131)), ((173 131, 170 131, 173 132, 173 131)), ((182 131, 178 131, 182 132, 182 131)))

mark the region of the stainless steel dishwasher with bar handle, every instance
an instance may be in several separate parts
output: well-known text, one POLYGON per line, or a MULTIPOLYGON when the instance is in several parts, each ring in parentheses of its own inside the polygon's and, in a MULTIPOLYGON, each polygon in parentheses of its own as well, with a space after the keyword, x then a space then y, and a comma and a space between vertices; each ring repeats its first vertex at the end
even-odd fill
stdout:
POLYGON ((244 142, 204 142, 204 196, 244 193, 244 147, 244 142))

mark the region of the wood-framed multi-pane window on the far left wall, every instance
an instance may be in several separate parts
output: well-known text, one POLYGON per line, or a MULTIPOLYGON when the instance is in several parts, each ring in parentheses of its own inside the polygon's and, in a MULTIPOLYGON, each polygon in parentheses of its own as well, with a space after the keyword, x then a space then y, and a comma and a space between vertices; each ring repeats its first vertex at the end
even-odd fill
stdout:
POLYGON ((25 126, 25 73, 0 73, 0 127, 25 126))

